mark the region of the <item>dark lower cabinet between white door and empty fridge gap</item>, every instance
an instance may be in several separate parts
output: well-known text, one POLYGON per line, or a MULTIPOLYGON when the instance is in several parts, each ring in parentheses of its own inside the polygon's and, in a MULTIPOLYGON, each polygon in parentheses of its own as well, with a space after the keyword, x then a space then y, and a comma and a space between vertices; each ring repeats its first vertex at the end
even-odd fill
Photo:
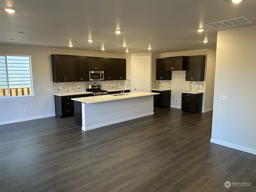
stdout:
POLYGON ((160 93, 158 95, 154 95, 154 107, 166 108, 171 106, 171 90, 152 90, 152 92, 160 93))

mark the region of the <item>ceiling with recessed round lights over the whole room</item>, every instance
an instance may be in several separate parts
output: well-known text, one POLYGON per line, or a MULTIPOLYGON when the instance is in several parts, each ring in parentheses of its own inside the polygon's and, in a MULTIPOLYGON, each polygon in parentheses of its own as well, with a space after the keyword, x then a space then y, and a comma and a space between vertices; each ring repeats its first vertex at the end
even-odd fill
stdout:
POLYGON ((72 43, 71 49, 89 51, 103 45, 111 53, 125 53, 123 42, 130 53, 216 49, 217 30, 204 24, 241 16, 253 22, 244 26, 256 24, 256 0, 0 0, 0 42, 55 48, 72 43), (206 30, 197 32, 200 27, 206 30))

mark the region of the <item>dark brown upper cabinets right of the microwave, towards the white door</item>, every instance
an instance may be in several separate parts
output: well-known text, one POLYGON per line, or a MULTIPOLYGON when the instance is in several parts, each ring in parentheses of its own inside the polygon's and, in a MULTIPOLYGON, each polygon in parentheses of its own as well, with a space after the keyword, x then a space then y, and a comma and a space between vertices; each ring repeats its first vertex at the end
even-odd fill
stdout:
POLYGON ((126 60, 125 59, 103 59, 104 80, 125 80, 126 60))

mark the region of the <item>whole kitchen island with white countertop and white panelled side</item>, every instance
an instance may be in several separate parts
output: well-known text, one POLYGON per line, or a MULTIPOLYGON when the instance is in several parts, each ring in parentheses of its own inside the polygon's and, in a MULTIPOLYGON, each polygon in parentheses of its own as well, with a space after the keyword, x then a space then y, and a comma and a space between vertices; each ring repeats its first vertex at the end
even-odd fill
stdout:
POLYGON ((87 131, 154 114, 152 92, 102 95, 74 100, 76 125, 87 131))

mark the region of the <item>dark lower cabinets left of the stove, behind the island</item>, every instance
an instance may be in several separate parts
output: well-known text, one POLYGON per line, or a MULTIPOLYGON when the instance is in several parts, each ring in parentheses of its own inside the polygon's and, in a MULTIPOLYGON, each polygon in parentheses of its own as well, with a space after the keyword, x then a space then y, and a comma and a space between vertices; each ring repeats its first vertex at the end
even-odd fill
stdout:
POLYGON ((72 98, 78 97, 89 97, 93 94, 80 94, 80 95, 70 95, 70 96, 56 96, 54 95, 55 101, 55 115, 63 118, 74 116, 74 101, 72 98))

